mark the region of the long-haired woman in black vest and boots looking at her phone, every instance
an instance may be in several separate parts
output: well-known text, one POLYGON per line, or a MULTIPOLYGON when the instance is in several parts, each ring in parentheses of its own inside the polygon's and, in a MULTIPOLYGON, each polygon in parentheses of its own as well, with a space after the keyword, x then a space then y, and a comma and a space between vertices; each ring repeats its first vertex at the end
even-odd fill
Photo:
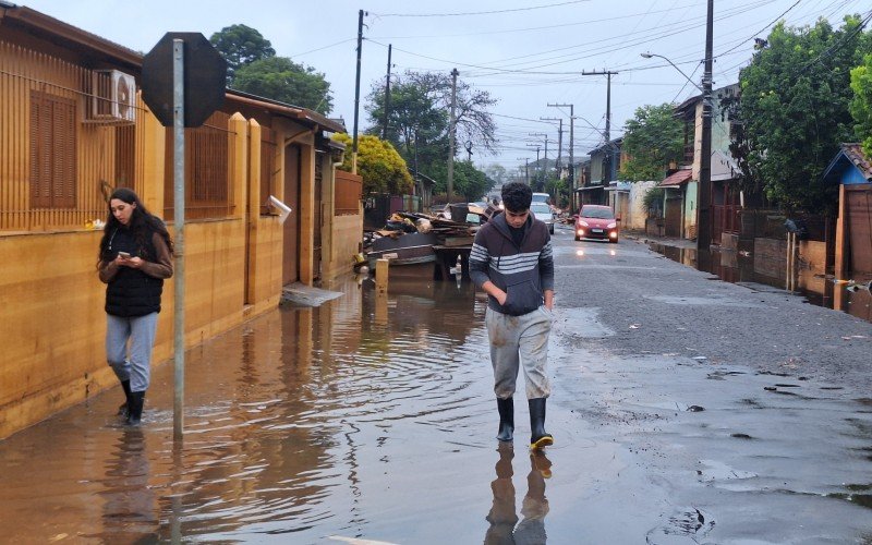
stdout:
POLYGON ((172 241, 132 190, 109 196, 100 240, 99 277, 106 286, 106 359, 124 388, 126 423, 138 425, 148 389, 152 349, 164 279, 172 276, 172 241))

